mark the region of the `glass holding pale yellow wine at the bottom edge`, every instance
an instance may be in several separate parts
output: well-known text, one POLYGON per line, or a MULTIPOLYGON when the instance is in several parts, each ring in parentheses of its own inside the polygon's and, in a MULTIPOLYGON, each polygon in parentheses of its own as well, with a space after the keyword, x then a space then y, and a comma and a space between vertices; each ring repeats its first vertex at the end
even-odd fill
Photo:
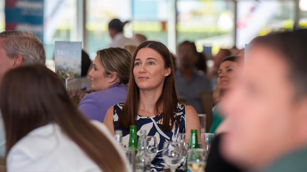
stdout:
POLYGON ((207 163, 207 151, 201 148, 192 148, 188 153, 188 166, 191 172, 204 172, 207 163))

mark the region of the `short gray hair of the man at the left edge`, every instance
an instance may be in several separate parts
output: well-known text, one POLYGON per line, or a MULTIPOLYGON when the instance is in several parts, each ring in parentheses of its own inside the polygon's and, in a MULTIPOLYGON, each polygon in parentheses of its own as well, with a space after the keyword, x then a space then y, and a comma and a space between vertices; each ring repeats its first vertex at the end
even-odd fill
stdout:
POLYGON ((28 31, 4 31, 0 33, 2 48, 9 58, 22 56, 23 65, 45 65, 46 53, 40 39, 28 31))

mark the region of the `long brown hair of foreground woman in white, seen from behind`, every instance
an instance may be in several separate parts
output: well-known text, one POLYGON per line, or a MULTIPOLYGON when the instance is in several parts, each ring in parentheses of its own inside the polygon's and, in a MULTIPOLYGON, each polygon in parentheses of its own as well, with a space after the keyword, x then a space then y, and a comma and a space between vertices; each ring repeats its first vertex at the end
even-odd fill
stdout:
POLYGON ((125 171, 124 160, 115 146, 80 114, 60 79, 46 67, 25 66, 6 73, 0 108, 6 130, 6 155, 33 129, 55 123, 101 170, 125 171))

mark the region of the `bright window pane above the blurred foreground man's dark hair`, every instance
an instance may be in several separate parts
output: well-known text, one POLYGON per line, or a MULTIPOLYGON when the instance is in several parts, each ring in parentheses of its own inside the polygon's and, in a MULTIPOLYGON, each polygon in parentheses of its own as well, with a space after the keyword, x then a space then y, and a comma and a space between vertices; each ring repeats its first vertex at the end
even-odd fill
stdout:
POLYGON ((292 30, 295 3, 292 0, 238 1, 237 47, 244 48, 253 38, 273 31, 292 30))

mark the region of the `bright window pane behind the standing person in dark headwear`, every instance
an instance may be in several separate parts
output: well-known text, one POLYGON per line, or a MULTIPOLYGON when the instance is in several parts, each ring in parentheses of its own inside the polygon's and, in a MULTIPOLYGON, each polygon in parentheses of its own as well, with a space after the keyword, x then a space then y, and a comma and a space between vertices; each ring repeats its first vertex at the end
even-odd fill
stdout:
MULTIPOLYGON (((96 52, 111 43, 108 24, 113 18, 122 22, 131 20, 131 0, 87 0, 86 1, 86 46, 93 60, 96 52)), ((131 37, 131 24, 125 26, 125 36, 131 37)))

